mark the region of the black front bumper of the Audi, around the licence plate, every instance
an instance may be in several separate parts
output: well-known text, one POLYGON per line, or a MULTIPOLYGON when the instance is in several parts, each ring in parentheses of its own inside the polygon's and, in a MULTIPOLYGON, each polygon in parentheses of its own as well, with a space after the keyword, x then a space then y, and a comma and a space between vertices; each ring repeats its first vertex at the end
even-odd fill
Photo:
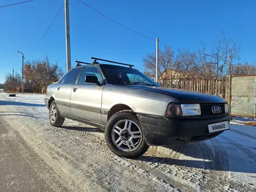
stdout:
POLYGON ((207 140, 223 131, 209 133, 208 125, 230 122, 231 116, 218 118, 165 118, 137 114, 148 145, 180 145, 207 140))

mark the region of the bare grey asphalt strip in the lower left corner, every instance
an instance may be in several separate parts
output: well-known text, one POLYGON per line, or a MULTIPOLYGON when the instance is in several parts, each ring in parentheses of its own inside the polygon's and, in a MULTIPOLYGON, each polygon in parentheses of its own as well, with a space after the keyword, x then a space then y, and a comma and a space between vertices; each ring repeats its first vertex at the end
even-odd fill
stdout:
POLYGON ((0 168, 0 191, 66 191, 53 170, 1 116, 0 168))

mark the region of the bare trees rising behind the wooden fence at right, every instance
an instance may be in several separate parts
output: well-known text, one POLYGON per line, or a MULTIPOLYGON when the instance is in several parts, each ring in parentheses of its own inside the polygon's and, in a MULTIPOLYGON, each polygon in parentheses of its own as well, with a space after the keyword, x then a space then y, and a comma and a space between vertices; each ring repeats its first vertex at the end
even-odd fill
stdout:
MULTIPOLYGON (((143 62, 144 73, 155 79, 155 54, 148 54, 143 62)), ((256 74, 256 65, 255 63, 241 62, 240 45, 232 37, 227 38, 225 33, 221 31, 217 35, 216 41, 212 42, 211 48, 202 44, 198 51, 176 50, 171 46, 160 50, 158 74, 161 80, 182 80, 184 78, 216 80, 221 79, 226 74, 256 74), (228 63, 230 68, 228 68, 228 63)))

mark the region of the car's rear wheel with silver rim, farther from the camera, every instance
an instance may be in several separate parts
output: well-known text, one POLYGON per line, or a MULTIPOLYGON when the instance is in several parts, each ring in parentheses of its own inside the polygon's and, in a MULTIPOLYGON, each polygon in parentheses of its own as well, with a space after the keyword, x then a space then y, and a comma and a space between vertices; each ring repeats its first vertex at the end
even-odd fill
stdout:
POLYGON ((63 125, 64 121, 65 121, 65 118, 63 118, 60 115, 59 109, 56 105, 56 102, 52 101, 52 103, 49 107, 49 122, 54 127, 61 127, 63 125))

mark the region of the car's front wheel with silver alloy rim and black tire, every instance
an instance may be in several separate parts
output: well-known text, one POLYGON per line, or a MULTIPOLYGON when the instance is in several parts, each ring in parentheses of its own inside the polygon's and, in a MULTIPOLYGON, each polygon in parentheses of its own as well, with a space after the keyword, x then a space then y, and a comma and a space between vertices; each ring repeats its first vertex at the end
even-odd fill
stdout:
POLYGON ((111 151, 119 157, 134 159, 148 150, 140 121, 136 113, 131 110, 119 111, 108 120, 105 128, 105 140, 111 151), (120 146, 118 146, 119 144, 120 146))

